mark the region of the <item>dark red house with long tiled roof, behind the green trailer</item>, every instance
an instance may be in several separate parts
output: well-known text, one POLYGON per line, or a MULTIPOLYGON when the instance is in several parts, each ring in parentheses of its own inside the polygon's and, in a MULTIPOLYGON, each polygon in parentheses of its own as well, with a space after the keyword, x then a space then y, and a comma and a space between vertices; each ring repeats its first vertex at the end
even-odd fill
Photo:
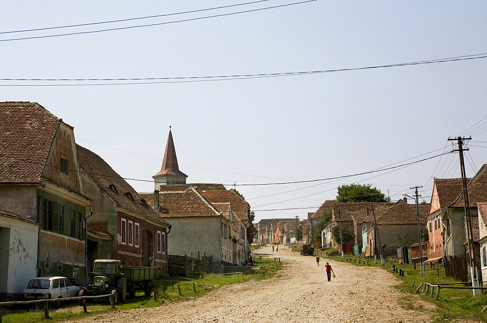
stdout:
MULTIPOLYGON (((86 195, 88 259, 119 259, 122 266, 158 267, 168 273, 169 223, 100 156, 76 145, 86 195)), ((152 203, 153 204, 153 203, 152 203)))

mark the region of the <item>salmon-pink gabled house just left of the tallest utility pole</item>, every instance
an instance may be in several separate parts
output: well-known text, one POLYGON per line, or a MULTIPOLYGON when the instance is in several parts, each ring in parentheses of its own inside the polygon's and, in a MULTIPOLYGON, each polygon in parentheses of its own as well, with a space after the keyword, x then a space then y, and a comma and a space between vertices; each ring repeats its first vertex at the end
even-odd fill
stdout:
POLYGON ((444 235, 450 236, 450 222, 443 228, 443 217, 450 204, 462 192, 461 178, 435 178, 431 204, 427 219, 428 260, 439 261, 443 258, 444 235))

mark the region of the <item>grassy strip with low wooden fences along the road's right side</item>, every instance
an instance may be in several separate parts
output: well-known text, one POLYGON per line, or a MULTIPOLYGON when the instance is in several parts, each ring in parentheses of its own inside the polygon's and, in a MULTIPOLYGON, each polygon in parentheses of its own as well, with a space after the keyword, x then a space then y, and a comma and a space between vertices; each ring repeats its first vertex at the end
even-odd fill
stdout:
MULTIPOLYGON (((341 261, 341 262, 349 262, 347 261, 347 257, 350 258, 350 255, 345 255, 344 258, 339 256, 329 257, 329 259, 341 261)), ((354 257, 357 258, 357 257, 354 257)), ((369 261, 369 265, 367 264, 359 264, 358 261, 354 262, 351 261, 353 265, 356 266, 378 266, 393 273, 394 276, 402 280, 403 282, 399 285, 394 286, 401 291, 408 292, 414 294, 416 289, 418 288, 419 284, 421 283, 430 283, 430 284, 450 284, 450 283, 458 283, 451 278, 445 276, 445 269, 441 268, 438 272, 436 270, 430 270, 430 266, 425 266, 425 275, 421 276, 419 273, 419 266, 416 266, 416 270, 414 270, 413 266, 408 265, 399 265, 396 262, 390 262, 396 265, 398 268, 402 268, 404 270, 404 276, 399 276, 399 272, 395 272, 389 266, 382 266, 380 260, 369 261)), ((435 267, 440 268, 440 267, 435 267)), ((399 271, 399 270, 398 270, 399 271)), ((463 285, 460 285, 463 286, 463 285)), ((436 292, 436 289, 435 289, 436 292)), ((480 296, 473 296, 471 289, 448 289, 443 288, 440 290, 440 296, 438 301, 434 299, 434 296, 431 297, 430 293, 426 293, 426 289, 423 292, 423 287, 421 287, 418 291, 420 297, 428 302, 436 304, 438 306, 438 310, 434 312, 434 320, 433 322, 444 322, 446 320, 474 320, 477 322, 486 322, 487 321, 487 311, 481 313, 481 310, 484 306, 487 305, 487 295, 481 294, 480 296)), ((414 306, 411 302, 411 298, 404 297, 399 300, 400 304, 403 305, 405 308, 414 309, 418 311, 426 310, 422 306, 414 306), (409 299, 409 300, 408 300, 409 299)))

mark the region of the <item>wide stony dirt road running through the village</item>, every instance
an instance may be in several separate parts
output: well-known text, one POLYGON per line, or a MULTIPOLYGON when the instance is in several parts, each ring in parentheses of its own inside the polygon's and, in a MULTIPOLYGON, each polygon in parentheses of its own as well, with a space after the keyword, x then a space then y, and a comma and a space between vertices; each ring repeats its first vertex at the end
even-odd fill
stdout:
MULTIPOLYGON (((270 247, 256 250, 272 254, 270 247)), ((337 278, 327 282, 326 259, 280 247, 286 263, 273 279, 223 286, 206 296, 154 308, 116 311, 82 322, 430 322, 427 312, 398 305, 402 294, 391 273, 329 261, 337 278)), ((418 303, 415 295, 408 295, 418 303)), ((423 303, 424 304, 424 303, 423 303)))

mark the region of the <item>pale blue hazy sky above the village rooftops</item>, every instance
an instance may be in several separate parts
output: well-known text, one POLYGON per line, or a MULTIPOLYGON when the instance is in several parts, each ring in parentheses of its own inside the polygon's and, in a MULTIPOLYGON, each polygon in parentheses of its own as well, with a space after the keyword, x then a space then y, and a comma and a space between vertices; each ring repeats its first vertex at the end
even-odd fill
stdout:
POLYGON ((304 219, 351 183, 429 202, 433 177, 460 177, 457 152, 434 157, 449 137, 472 137, 467 176, 487 163, 487 1, 244 3, 2 0, 0 101, 38 102, 139 192, 171 126, 187 182, 236 188, 257 222, 304 219), (236 77, 330 70, 346 71, 236 77), (115 78, 166 79, 98 80, 115 78))

